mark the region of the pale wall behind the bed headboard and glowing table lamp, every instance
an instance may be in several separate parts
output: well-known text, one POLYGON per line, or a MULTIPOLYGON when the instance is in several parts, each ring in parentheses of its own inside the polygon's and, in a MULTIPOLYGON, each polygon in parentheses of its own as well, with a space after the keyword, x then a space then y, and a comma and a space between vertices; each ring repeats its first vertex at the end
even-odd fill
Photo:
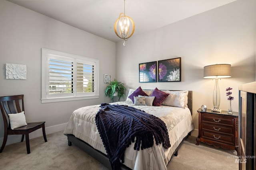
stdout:
MULTIPOLYGON (((231 64, 232 77, 219 81, 220 109, 228 109, 226 88, 232 87, 232 107, 238 111, 238 85, 255 81, 256 1, 238 0, 225 6, 131 37, 116 44, 116 74, 128 88, 193 90, 193 121, 197 109, 212 108, 214 81, 203 78, 203 67, 231 64), (181 57, 181 82, 139 83, 138 64, 181 57)), ((135 22, 135 21, 134 21, 135 22)), ((136 24, 136 22, 135 22, 136 24)), ((153 23, 152 23, 153 24, 153 23)), ((136 30, 135 30, 136 31, 136 30)), ((198 131, 194 131, 197 136, 198 131)))

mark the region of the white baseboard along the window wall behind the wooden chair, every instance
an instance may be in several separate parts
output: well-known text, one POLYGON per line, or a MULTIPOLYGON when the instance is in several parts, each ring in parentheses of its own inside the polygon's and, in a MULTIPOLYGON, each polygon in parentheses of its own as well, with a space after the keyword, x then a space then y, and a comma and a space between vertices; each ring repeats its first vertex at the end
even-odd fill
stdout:
MULTIPOLYGON (((55 132, 59 132, 59 131, 64 131, 64 129, 66 128, 67 124, 68 123, 63 123, 63 124, 60 124, 60 125, 54 125, 54 126, 46 127, 45 128, 45 133, 46 133, 46 135, 48 135, 48 134, 51 134, 51 133, 55 133, 55 132)), ((20 142, 21 136, 22 135, 8 135, 6 145, 11 145, 13 143, 20 142)), ((29 134, 29 139, 33 139, 33 138, 41 137, 41 136, 43 136, 42 129, 37 129, 36 131, 31 132, 29 134)), ((4 137, 0 137, 0 144, 1 144, 1 146, 2 146, 3 140, 4 140, 4 137)), ((24 138, 24 140, 25 140, 25 138, 24 138)))

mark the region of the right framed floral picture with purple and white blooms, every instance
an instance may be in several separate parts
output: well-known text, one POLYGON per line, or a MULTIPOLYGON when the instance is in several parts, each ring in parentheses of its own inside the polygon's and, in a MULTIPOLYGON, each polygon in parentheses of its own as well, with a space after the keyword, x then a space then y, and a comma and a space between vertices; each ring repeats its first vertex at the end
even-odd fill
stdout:
POLYGON ((158 61, 158 82, 180 82, 181 57, 158 61))

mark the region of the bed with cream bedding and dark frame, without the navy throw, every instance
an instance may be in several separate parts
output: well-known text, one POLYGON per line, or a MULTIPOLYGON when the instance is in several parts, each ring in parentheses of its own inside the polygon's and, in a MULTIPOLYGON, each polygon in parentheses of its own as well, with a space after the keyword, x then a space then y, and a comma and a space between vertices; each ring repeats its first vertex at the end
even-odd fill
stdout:
MULTIPOLYGON (((138 89, 137 89, 138 90, 138 89)), ((130 89, 128 97, 135 93, 136 90, 130 89)), ((154 90, 143 90, 148 96, 154 90)), ((170 161, 172 155, 178 154, 178 148, 182 141, 194 129, 192 122, 192 91, 181 90, 161 90, 169 93, 169 95, 161 106, 140 106, 135 105, 134 101, 127 97, 124 102, 114 102, 114 105, 125 105, 144 110, 146 113, 159 117, 166 124, 168 135, 170 138, 171 147, 164 149, 162 145, 153 145, 151 148, 143 150, 134 150, 133 143, 125 150, 124 164, 121 169, 124 170, 166 170, 166 165, 170 161), (173 95, 175 94, 175 95, 173 95), (184 94, 184 95, 183 95, 184 94), (180 96, 178 96, 180 95, 180 96), (181 104, 183 107, 168 106, 170 102, 181 104), (168 101, 169 99, 169 101, 168 101), (174 101, 175 100, 175 101, 174 101), (169 104, 168 104, 169 103, 169 104), (167 106, 166 106, 167 105, 167 106)), ((139 96, 143 97, 143 96, 139 96)), ((135 98, 134 98, 135 99, 135 98)), ((106 150, 100 138, 96 123, 95 115, 98 112, 100 105, 86 106, 76 109, 68 121, 68 125, 64 130, 64 135, 68 137, 68 145, 72 143, 80 149, 86 151, 104 166, 111 168, 106 150)))

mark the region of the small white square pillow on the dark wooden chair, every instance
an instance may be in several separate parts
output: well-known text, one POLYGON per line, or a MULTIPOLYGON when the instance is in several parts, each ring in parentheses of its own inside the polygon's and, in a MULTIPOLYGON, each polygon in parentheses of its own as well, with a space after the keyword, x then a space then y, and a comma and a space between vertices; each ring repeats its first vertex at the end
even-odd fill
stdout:
POLYGON ((27 125, 24 111, 21 113, 8 114, 10 119, 11 129, 16 129, 27 125))

